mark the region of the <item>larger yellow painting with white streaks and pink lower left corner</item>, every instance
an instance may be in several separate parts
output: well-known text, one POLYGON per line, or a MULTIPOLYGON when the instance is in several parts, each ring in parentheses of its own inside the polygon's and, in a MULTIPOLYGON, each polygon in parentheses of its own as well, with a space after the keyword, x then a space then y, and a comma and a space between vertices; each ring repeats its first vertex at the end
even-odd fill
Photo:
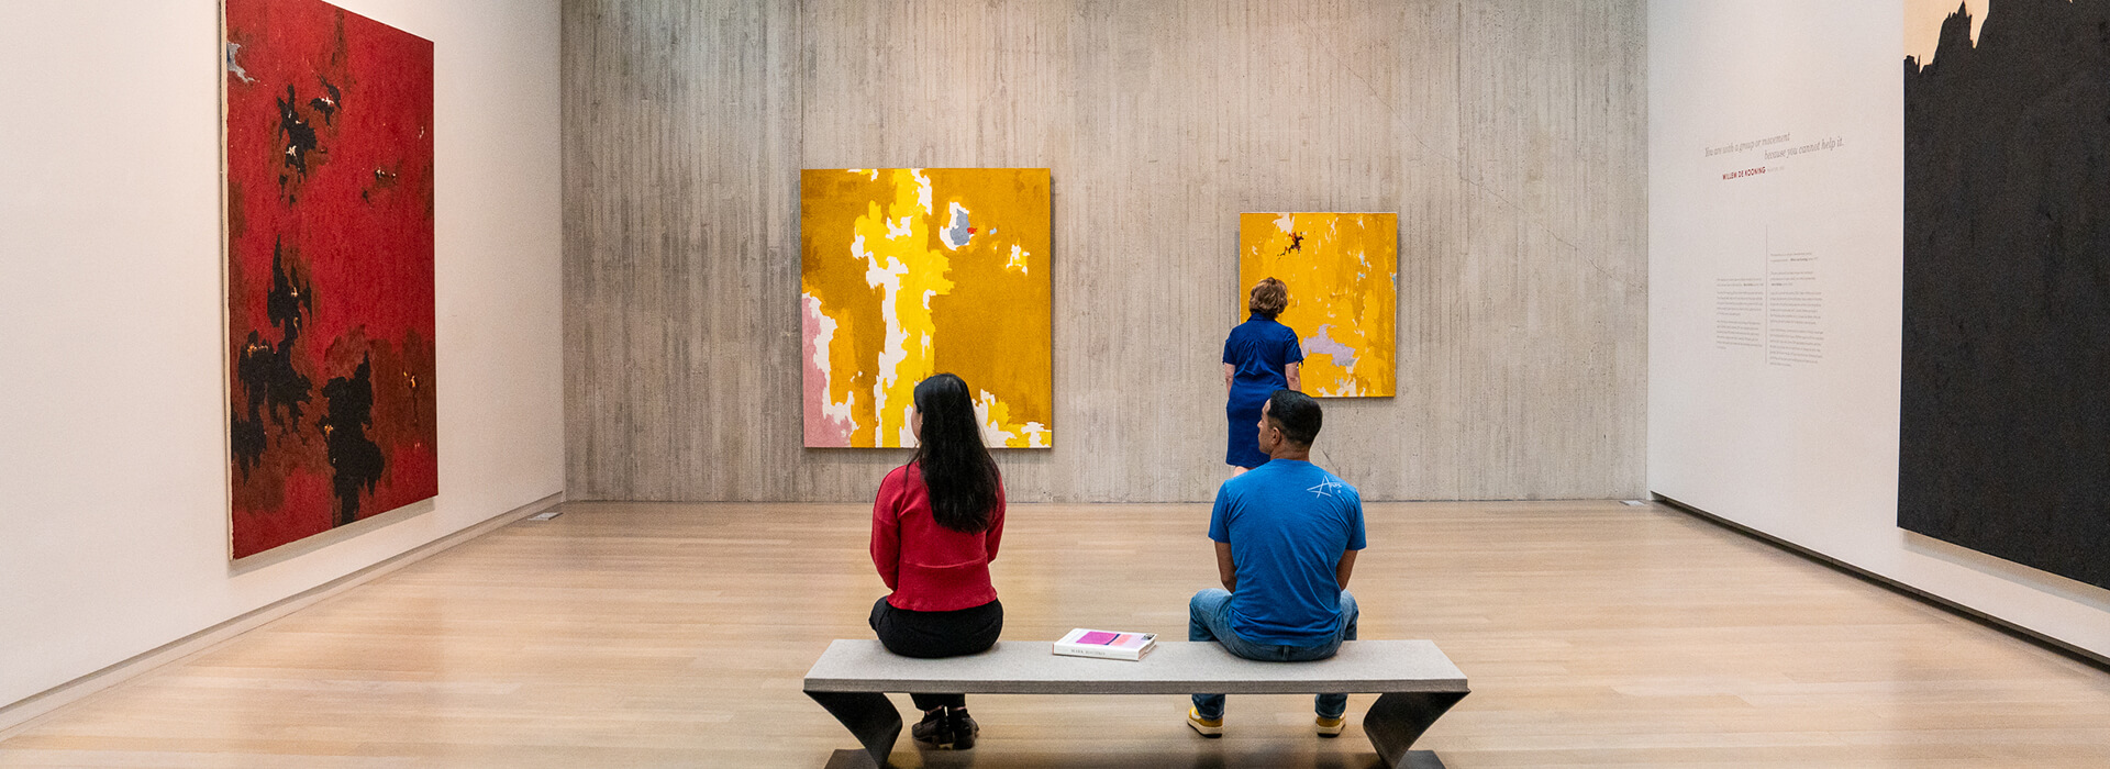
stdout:
POLYGON ((808 447, 914 447, 956 373, 990 447, 1053 447, 1049 169, 800 175, 808 447))

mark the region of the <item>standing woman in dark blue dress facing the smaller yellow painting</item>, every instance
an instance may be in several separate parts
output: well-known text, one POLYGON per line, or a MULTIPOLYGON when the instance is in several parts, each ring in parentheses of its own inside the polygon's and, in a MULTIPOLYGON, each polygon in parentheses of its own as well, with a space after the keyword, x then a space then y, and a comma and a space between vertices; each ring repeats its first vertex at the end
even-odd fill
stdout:
POLYGON ((1224 449, 1224 464, 1239 468, 1232 474, 1260 468, 1268 455, 1253 438, 1260 423, 1260 407, 1274 390, 1304 390, 1298 369, 1304 362, 1304 348, 1298 333, 1274 322, 1274 316, 1289 308, 1289 287, 1274 278, 1253 284, 1245 308, 1253 312, 1224 339, 1224 392, 1228 394, 1224 415, 1230 419, 1230 442, 1224 449))

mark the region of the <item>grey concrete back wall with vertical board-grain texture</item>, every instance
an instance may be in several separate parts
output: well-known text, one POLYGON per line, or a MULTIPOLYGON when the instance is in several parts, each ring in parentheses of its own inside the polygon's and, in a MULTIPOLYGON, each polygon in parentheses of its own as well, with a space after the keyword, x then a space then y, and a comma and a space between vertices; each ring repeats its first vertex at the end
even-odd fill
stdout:
POLYGON ((1639 495, 1644 11, 570 0, 568 491, 869 499, 905 451, 802 447, 798 171, 1047 166, 1013 499, 1213 495, 1241 211, 1399 213, 1399 396, 1315 455, 1367 499, 1639 495))

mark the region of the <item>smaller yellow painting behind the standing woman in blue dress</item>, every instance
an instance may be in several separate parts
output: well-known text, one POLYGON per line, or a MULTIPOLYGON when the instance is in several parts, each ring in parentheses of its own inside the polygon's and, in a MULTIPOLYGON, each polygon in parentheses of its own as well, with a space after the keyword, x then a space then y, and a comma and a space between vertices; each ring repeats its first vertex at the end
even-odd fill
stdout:
POLYGON ((1262 278, 1289 287, 1289 308, 1274 320, 1304 346, 1304 392, 1395 394, 1397 213, 1241 213, 1241 318, 1245 291, 1262 278))

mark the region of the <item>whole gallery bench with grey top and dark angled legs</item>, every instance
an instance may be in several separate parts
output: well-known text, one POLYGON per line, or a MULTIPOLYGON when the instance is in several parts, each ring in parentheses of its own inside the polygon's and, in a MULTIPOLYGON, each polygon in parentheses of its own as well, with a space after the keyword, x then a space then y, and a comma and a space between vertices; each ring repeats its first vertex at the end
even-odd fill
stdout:
MULTIPOLYGON (((829 767, 884 767, 901 737, 901 712, 888 691, 1004 695, 1165 695, 1165 693, 1378 693, 1363 733, 1386 767, 1441 767, 1409 750, 1428 725, 1471 689, 1428 640, 1348 640, 1317 662, 1241 659, 1213 640, 1158 640, 1142 662, 1057 657, 1047 640, 998 643, 990 651, 916 659, 878 640, 836 640, 806 670, 806 695, 857 735, 865 750, 838 750, 829 767)), ((1186 727, 1182 727, 1182 733, 1186 727)))

